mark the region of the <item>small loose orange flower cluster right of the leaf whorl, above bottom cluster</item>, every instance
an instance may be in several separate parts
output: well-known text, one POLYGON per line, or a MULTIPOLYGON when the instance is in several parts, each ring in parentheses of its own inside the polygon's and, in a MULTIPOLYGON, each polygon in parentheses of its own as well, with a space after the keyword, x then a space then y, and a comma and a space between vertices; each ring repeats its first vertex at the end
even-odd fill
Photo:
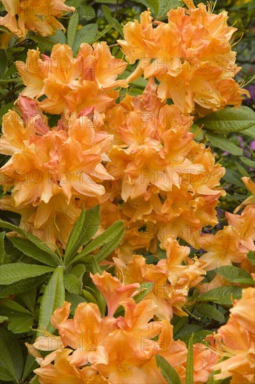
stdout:
POLYGON ((154 265, 146 263, 143 256, 134 254, 125 262, 120 253, 118 258, 114 258, 116 274, 126 283, 153 283, 147 297, 157 304, 155 313, 158 318, 171 319, 173 312, 178 316, 186 316, 182 307, 187 300, 188 291, 206 273, 202 268, 203 263, 196 258, 194 261, 187 258, 189 253, 189 247, 179 246, 175 239, 169 238, 167 259, 159 260, 154 265))

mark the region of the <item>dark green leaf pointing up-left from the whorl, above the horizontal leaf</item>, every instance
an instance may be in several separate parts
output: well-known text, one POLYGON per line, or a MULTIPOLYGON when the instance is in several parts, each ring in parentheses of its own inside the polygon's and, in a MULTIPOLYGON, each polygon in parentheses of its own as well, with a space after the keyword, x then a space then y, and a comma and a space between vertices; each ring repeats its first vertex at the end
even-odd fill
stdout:
POLYGON ((57 267, 60 264, 60 260, 56 255, 52 257, 52 255, 42 251, 36 244, 28 239, 22 239, 21 237, 9 237, 8 239, 13 243, 15 248, 19 249, 24 255, 38 260, 40 263, 50 265, 51 267, 57 267))

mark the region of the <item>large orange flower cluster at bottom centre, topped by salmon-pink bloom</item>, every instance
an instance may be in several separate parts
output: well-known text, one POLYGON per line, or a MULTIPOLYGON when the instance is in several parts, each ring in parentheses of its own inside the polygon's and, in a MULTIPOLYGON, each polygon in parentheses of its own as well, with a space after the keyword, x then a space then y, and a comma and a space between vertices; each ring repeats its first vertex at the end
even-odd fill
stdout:
MULTIPOLYGON (((86 302, 78 304, 70 319, 70 303, 56 309, 51 323, 59 336, 45 332, 33 346, 27 345, 40 364, 35 370, 40 383, 167 383, 155 355, 164 357, 185 383, 187 347, 173 339, 168 320, 151 321, 157 312, 153 300, 135 302, 139 284, 123 285, 107 272, 91 277, 107 302, 107 316, 86 302), (52 352, 43 358, 39 350, 52 352)), ((219 357, 199 343, 194 344, 194 353, 194 383, 199 384, 209 378, 219 357)))

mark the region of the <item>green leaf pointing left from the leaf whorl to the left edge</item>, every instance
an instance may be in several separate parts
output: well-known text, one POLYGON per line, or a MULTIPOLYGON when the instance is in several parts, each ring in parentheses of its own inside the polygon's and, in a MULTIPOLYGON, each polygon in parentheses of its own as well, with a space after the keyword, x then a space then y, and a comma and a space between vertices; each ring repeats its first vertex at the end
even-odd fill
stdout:
POLYGON ((0 283, 6 286, 22 279, 40 276, 52 271, 54 271, 54 268, 36 264, 14 263, 0 265, 0 283))

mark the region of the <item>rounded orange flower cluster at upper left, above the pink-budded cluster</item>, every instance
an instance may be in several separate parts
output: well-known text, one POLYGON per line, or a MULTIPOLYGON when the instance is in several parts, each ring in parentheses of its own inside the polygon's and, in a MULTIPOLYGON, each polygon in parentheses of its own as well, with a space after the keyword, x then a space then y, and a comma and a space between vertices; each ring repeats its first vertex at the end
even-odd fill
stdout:
POLYGON ((26 85, 22 94, 39 98, 47 96, 40 108, 54 115, 70 112, 79 114, 93 106, 96 112, 104 112, 114 103, 118 92, 112 89, 127 87, 125 80, 116 80, 127 63, 111 56, 105 42, 93 47, 82 44, 74 58, 69 45, 56 44, 50 57, 29 50, 26 64, 16 61, 17 70, 26 85))

